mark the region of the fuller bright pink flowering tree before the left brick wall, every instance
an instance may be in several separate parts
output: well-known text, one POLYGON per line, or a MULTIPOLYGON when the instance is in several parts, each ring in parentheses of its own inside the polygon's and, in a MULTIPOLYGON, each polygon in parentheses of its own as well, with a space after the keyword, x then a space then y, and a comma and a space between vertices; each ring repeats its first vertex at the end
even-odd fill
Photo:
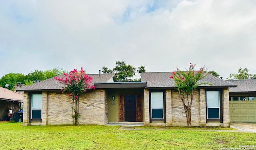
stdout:
POLYGON ((58 80, 60 83, 64 85, 61 89, 63 92, 71 92, 72 94, 68 94, 68 97, 72 98, 72 118, 73 125, 79 124, 79 99, 80 96, 86 92, 88 89, 95 89, 94 85, 92 85, 92 77, 89 77, 85 74, 83 68, 80 71, 74 69, 69 73, 64 73, 65 78, 54 77, 54 79, 58 80), (74 106, 75 105, 75 106, 74 106))

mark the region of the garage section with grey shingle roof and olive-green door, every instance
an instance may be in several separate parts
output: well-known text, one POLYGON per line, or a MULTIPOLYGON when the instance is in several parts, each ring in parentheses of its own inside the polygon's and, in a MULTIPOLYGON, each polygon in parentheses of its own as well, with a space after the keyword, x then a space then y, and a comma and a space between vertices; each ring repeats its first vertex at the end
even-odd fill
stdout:
POLYGON ((256 79, 228 82, 237 85, 229 88, 230 122, 256 122, 256 79))

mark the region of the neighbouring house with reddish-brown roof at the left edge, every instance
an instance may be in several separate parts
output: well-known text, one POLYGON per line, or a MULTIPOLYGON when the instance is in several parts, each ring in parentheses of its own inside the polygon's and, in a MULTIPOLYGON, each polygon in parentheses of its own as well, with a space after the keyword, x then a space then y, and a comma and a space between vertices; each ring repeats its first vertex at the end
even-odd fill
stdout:
POLYGON ((0 87, 0 119, 3 120, 6 116, 10 116, 8 109, 12 109, 12 114, 21 111, 22 103, 22 93, 0 87))

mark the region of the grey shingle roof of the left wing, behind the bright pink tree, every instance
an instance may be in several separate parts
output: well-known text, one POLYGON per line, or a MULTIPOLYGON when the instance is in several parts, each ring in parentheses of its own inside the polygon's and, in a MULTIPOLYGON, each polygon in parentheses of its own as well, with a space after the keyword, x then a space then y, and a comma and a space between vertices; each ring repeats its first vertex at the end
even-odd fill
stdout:
MULTIPOLYGON (((94 82, 107 82, 109 79, 115 76, 114 73, 110 74, 88 74, 90 77, 92 77, 92 83, 94 82)), ((59 75, 59 78, 63 77, 64 75, 59 75)), ((60 90, 62 89, 63 84, 59 83, 56 79, 53 77, 50 79, 46 79, 44 81, 40 81, 38 83, 34 83, 32 85, 22 87, 20 89, 17 89, 17 91, 27 91, 27 90, 60 90)))

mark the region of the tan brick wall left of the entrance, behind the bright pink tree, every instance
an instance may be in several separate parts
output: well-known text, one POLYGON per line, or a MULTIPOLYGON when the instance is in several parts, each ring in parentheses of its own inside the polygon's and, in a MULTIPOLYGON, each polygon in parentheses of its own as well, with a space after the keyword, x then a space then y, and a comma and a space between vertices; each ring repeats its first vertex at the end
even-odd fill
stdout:
MULTIPOLYGON (((72 99, 67 93, 42 92, 42 122, 31 124, 72 124, 72 99)), ((87 91, 80 97, 80 124, 107 123, 107 99, 103 89, 87 91)), ((29 125, 29 94, 24 92, 23 125, 29 125)))

